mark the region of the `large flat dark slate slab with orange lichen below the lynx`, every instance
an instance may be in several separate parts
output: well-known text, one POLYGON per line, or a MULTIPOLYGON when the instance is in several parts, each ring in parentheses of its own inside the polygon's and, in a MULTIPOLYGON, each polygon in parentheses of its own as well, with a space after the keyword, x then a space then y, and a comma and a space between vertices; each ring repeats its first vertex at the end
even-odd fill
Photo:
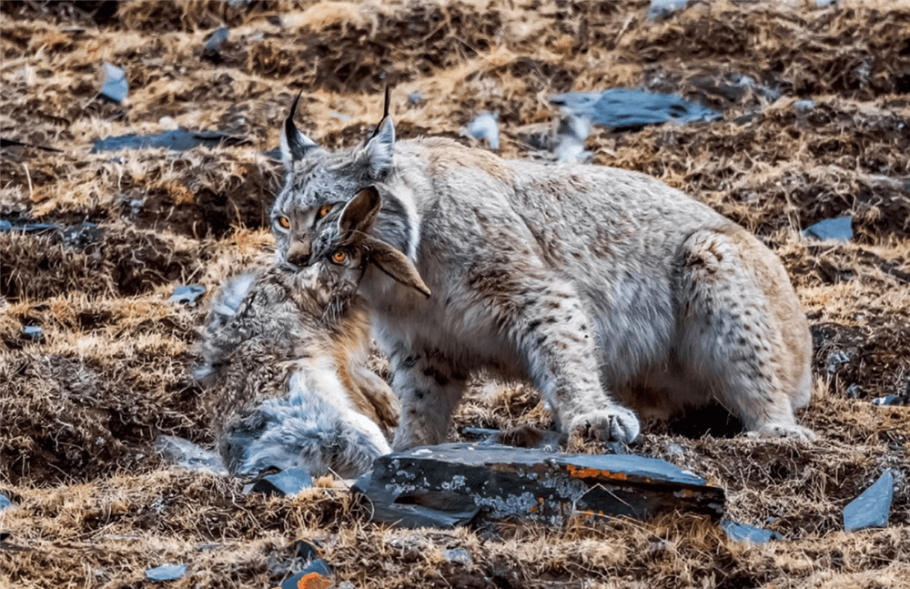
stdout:
POLYGON ((719 518, 724 502, 723 489, 653 458, 457 443, 380 456, 353 490, 369 499, 374 521, 402 527, 512 517, 559 525, 578 513, 719 518))

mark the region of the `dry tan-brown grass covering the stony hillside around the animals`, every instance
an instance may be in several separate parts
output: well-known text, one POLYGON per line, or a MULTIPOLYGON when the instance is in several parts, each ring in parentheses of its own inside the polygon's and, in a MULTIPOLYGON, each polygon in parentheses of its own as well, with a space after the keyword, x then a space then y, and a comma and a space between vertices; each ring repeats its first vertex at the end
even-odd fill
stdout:
MULTIPOLYGON (((910 394, 910 4, 691 4, 656 23, 644 0, 0 5, 0 134, 63 150, 4 149, 0 215, 101 229, 83 243, 0 234, 0 491, 17 504, 0 514, 5 583, 138 587, 146 568, 182 562, 189 574, 168 586, 264 587, 308 536, 339 582, 363 587, 910 586, 910 408, 870 402, 910 394), (220 25, 220 61, 204 61, 220 25), (96 99, 105 61, 126 68, 125 106, 96 99), (299 126, 337 148, 379 120, 387 82, 399 137, 457 137, 497 111, 506 157, 533 155, 554 92, 645 87, 723 111, 712 124, 597 129, 588 148, 702 199, 784 259, 813 324, 815 394, 800 418, 819 440, 730 436, 707 415, 710 434, 652 423, 632 449, 723 485, 731 517, 784 540, 733 543, 685 514, 395 530, 365 523, 369 506, 331 482, 267 499, 161 464, 159 433, 211 442, 187 376, 205 306, 168 303, 172 289, 211 291, 268 256, 280 169, 262 152, 298 90, 299 126), (162 117, 248 144, 89 153, 98 137, 161 130, 162 117), (851 243, 799 235, 844 214, 851 243), (841 532, 844 505, 885 468, 891 525, 841 532), (453 548, 471 562, 449 562, 453 548)), ((480 379, 451 438, 550 423, 531 388, 480 379)))

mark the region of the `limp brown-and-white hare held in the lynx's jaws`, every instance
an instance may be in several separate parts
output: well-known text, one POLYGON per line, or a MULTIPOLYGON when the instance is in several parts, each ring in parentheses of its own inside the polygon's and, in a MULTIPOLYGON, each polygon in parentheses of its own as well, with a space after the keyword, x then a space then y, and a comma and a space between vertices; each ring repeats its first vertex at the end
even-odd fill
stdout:
POLYGON ((368 264, 429 291, 408 259, 367 235, 377 211, 375 188, 359 191, 313 265, 242 275, 214 302, 197 378, 230 472, 351 477, 390 452, 379 425, 397 424, 397 402, 366 366, 369 316, 356 291, 368 264))

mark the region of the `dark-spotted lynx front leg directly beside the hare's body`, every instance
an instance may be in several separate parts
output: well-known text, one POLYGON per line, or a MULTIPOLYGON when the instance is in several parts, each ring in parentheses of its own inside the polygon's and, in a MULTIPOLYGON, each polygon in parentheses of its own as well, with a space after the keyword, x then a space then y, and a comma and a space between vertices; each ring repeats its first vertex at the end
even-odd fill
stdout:
POLYGON ((401 452, 445 442, 467 377, 432 350, 412 350, 399 344, 389 360, 392 390, 401 401, 401 419, 392 449, 401 452))

